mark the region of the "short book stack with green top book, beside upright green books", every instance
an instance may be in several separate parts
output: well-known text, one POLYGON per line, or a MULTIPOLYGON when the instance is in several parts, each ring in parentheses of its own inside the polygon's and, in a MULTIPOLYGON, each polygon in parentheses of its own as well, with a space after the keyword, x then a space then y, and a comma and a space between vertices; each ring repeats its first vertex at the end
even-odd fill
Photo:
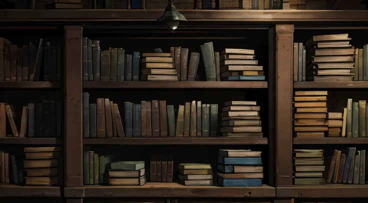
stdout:
POLYGON ((108 183, 111 185, 145 184, 144 161, 111 162, 108 171, 108 183))

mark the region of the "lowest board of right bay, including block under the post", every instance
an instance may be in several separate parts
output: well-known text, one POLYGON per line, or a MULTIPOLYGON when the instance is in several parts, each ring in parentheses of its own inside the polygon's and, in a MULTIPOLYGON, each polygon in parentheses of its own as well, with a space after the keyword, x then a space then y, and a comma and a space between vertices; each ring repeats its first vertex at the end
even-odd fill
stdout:
POLYGON ((277 197, 352 198, 368 197, 368 184, 277 186, 277 197))

